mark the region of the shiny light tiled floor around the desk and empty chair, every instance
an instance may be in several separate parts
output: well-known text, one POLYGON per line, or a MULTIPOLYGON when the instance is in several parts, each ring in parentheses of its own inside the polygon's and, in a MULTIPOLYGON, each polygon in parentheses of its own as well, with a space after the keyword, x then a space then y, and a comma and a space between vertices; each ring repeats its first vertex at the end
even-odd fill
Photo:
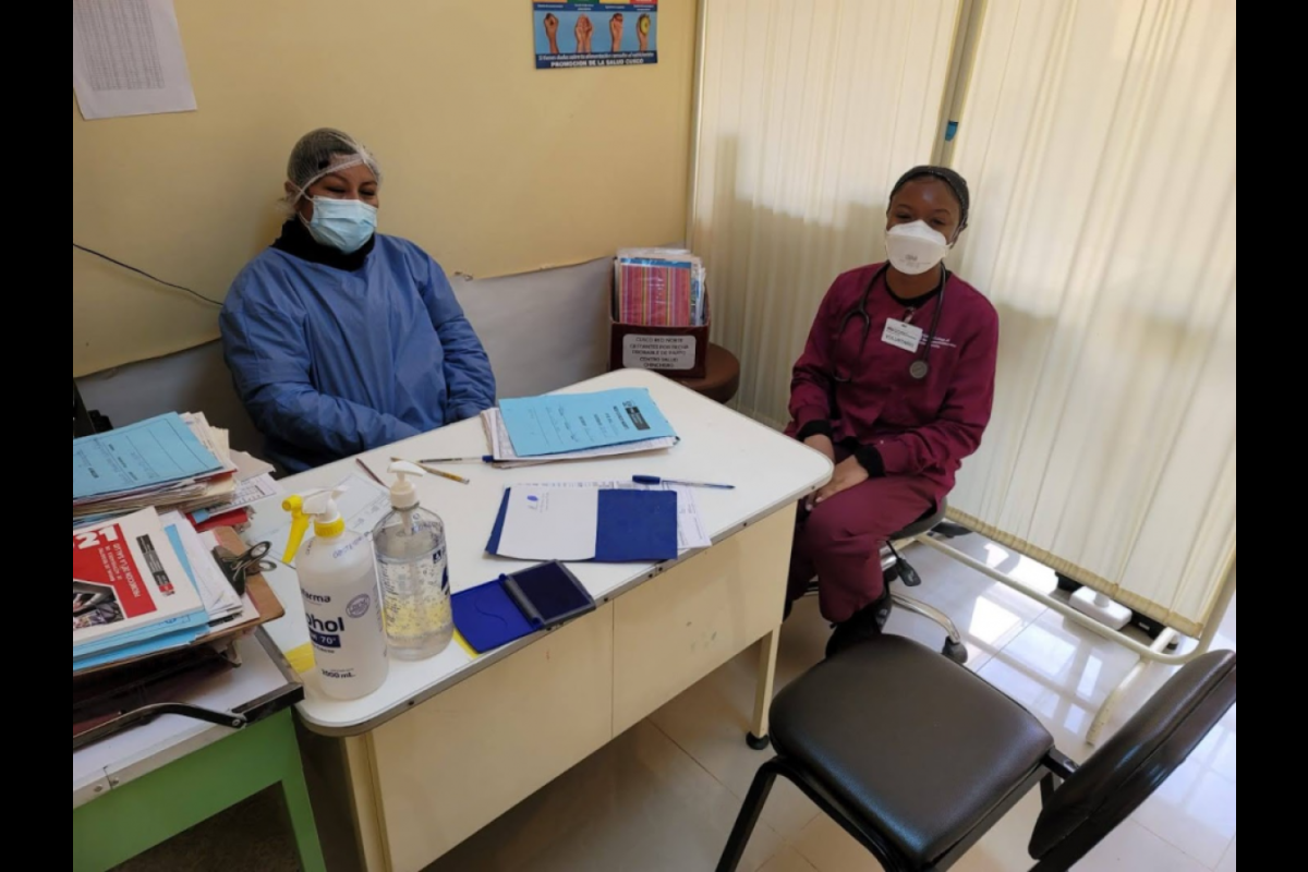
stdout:
MULTIPOLYGON (((977 537, 955 543, 1032 586, 1044 567, 977 537)), ((968 635, 972 668, 1036 713, 1075 758, 1099 706, 1135 664, 1124 648, 938 554, 912 554, 926 584, 914 596, 951 614, 968 635)), ((933 625, 896 613, 889 630, 938 646, 933 625)), ((778 682, 819 662, 829 630, 812 601, 786 625, 778 682)), ((1236 611, 1220 647, 1236 645, 1236 611)), ((1167 680, 1151 668, 1114 727, 1167 680)), ((717 865, 763 754, 743 743, 753 702, 755 656, 743 655, 612 746, 568 773, 445 858, 429 872, 700 872, 717 865)), ((1040 813, 1031 796, 959 867, 1025 872, 1040 813)), ((1083 872, 1233 872, 1236 713, 1134 818, 1078 867, 1083 872)), ((798 790, 778 782, 744 872, 879 872, 879 867, 798 790)))

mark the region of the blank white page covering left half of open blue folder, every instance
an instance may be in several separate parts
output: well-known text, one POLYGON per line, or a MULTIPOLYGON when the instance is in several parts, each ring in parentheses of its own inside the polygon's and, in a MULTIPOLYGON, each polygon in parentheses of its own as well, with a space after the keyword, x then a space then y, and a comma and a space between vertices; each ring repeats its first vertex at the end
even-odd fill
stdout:
POLYGON ((500 557, 595 560, 598 535, 598 489, 514 485, 500 535, 500 557))

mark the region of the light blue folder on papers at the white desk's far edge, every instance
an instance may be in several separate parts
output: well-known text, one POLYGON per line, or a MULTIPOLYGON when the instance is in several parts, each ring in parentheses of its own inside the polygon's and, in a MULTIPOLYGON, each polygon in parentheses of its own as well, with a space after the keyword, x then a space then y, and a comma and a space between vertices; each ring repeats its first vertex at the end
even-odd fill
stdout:
POLYGON ((509 467, 666 451, 678 443, 644 388, 505 400, 481 421, 490 455, 509 467))

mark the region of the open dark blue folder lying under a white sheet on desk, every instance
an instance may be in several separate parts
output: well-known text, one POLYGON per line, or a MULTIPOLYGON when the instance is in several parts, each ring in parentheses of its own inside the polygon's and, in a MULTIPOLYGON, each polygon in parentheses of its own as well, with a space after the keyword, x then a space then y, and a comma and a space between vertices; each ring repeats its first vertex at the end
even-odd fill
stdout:
MULTIPOLYGON (((504 493, 500 515, 490 531, 487 552, 500 556, 513 488, 504 493)), ((672 490, 600 490, 595 526, 596 563, 653 563, 676 560, 679 554, 678 502, 672 490)), ((526 558, 518 554, 519 558, 526 558)), ((540 553, 531 560, 556 560, 540 553)))

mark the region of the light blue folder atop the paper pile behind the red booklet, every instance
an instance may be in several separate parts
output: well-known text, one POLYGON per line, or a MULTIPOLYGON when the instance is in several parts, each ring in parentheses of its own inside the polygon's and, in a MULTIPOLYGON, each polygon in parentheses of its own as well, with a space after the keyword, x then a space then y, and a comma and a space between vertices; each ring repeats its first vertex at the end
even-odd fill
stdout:
POLYGON ((73 439, 73 502, 217 473, 222 463, 179 414, 73 439))

